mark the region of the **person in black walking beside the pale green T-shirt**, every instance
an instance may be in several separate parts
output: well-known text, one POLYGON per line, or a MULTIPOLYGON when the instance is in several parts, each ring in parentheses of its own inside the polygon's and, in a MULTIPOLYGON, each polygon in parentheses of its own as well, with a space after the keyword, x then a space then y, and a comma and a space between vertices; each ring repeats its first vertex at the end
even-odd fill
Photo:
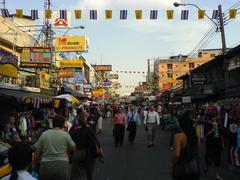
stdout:
POLYGON ((71 161, 71 180, 93 180, 96 156, 92 152, 96 146, 99 149, 99 157, 103 156, 99 140, 84 118, 78 118, 78 127, 71 132, 71 137, 76 144, 71 161))

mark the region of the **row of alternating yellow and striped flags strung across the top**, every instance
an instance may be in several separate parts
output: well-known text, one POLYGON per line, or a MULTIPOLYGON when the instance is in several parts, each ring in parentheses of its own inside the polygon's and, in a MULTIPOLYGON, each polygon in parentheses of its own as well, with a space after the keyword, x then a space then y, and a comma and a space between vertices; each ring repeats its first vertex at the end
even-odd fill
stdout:
MULTIPOLYGON (((44 17, 46 19, 52 19, 52 10, 45 10, 44 11, 44 17)), ((68 13, 70 11, 68 10, 59 10, 59 18, 60 19, 67 19, 68 13)), ((85 11, 84 11, 85 12, 85 11)), ((127 20, 128 19, 128 10, 120 10, 119 18, 120 20, 127 20)), ((150 20, 157 20, 159 13, 163 12, 160 10, 150 10, 150 20)), ((205 18, 205 10, 198 10, 198 19, 204 19, 205 18)), ((213 10, 212 11, 212 19, 218 19, 219 17, 219 10, 213 10)), ((82 19, 83 10, 74 10, 74 17, 75 19, 82 19)), ((113 18, 113 11, 112 10, 105 10, 105 19, 110 20, 113 18)), ((238 9, 230 9, 228 12, 228 16, 230 19, 234 19, 238 15, 238 9)), ((10 18, 10 13, 8 9, 1 9, 1 15, 3 18, 10 18)), ((174 10, 166 10, 166 18, 168 20, 174 19, 174 10)), ((181 20, 188 20, 189 19, 189 10, 181 10, 181 20)), ((31 18, 33 20, 39 19, 39 11, 38 10, 31 10, 31 18)), ((22 18, 23 17, 23 10, 22 9, 16 9, 16 17, 22 18)), ((98 11, 97 10, 89 10, 89 19, 90 20, 97 20, 98 17, 98 11)), ((143 19, 143 10, 135 10, 135 19, 140 20, 143 19)))

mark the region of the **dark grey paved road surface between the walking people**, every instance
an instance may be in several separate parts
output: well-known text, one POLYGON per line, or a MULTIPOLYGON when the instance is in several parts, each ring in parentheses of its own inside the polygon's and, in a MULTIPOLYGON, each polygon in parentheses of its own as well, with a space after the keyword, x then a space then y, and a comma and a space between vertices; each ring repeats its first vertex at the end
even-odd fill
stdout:
MULTIPOLYGON (((103 134, 99 136, 104 149, 105 163, 96 163, 95 180, 171 180, 171 151, 168 149, 169 134, 159 130, 156 146, 148 148, 146 132, 139 128, 135 145, 128 145, 127 134, 123 147, 115 148, 112 137, 112 126, 103 124, 103 134)), ((226 159, 223 164, 223 178, 239 180, 240 175, 227 170, 226 159)), ((212 172, 202 177, 204 180, 213 178, 212 172)))

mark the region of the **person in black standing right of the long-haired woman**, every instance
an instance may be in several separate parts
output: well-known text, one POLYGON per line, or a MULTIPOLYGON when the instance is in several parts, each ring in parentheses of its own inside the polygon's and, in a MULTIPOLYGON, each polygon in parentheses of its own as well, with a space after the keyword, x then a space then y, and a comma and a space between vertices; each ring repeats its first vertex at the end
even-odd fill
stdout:
POLYGON ((214 113, 209 114, 209 120, 205 124, 206 134, 206 171, 208 167, 214 162, 215 178, 221 180, 220 166, 221 166, 221 152, 223 150, 223 137, 220 126, 217 122, 217 116, 214 113))

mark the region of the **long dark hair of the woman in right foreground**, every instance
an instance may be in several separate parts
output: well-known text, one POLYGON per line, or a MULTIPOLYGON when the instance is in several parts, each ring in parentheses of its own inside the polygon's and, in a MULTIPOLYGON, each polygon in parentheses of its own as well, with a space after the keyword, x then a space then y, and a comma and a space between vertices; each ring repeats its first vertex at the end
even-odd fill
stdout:
POLYGON ((186 111, 181 116, 179 116, 178 123, 182 132, 184 132, 187 136, 188 144, 191 147, 196 148, 198 144, 198 138, 195 128, 193 127, 190 111, 186 111))

